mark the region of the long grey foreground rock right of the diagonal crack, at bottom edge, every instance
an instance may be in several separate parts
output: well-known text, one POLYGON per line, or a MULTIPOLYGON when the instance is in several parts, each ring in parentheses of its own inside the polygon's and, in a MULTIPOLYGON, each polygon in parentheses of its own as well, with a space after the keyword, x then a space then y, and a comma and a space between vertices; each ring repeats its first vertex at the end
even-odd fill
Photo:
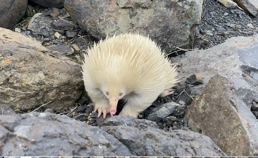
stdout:
POLYGON ((138 156, 226 155, 209 137, 190 131, 165 132, 153 127, 140 130, 130 126, 103 126, 100 129, 114 135, 138 156))

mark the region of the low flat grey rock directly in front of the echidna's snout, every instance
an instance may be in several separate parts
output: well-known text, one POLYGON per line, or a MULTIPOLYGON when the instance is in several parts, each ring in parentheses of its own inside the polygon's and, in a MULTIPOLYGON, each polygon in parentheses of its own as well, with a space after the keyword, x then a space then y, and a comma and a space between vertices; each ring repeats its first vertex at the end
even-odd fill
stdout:
POLYGON ((131 116, 124 116, 124 115, 109 117, 102 124, 102 126, 118 126, 118 125, 132 126, 132 127, 137 127, 138 129, 146 129, 147 127, 158 128, 158 125, 156 122, 149 121, 146 119, 138 119, 131 116))

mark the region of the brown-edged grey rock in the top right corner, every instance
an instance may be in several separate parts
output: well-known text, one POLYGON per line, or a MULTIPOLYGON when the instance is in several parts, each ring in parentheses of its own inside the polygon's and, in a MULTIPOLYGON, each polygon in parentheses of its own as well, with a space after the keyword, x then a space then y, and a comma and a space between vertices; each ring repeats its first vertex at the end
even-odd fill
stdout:
POLYGON ((258 1, 257 0, 235 0, 236 4, 243 8, 245 11, 251 15, 258 16, 258 1))

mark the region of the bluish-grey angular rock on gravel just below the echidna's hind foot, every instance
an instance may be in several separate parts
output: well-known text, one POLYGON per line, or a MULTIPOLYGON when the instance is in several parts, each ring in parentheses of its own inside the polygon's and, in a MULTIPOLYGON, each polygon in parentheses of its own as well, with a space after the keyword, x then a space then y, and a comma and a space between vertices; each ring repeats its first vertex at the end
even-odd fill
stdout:
POLYGON ((169 102, 165 103, 163 105, 160 105, 158 107, 155 107, 151 109, 149 112, 147 119, 154 122, 160 122, 162 118, 165 118, 171 114, 173 114, 176 107, 180 106, 180 104, 177 104, 175 102, 169 102))

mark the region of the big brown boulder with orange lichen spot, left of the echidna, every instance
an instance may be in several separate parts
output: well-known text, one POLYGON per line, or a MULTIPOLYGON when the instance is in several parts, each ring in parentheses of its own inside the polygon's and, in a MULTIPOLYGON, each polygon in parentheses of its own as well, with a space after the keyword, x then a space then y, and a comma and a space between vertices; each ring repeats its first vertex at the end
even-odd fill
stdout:
POLYGON ((51 52, 33 38, 0 28, 0 103, 14 111, 27 111, 45 104, 60 110, 82 94, 79 64, 51 52), (35 91, 35 92, 34 92, 35 91))

